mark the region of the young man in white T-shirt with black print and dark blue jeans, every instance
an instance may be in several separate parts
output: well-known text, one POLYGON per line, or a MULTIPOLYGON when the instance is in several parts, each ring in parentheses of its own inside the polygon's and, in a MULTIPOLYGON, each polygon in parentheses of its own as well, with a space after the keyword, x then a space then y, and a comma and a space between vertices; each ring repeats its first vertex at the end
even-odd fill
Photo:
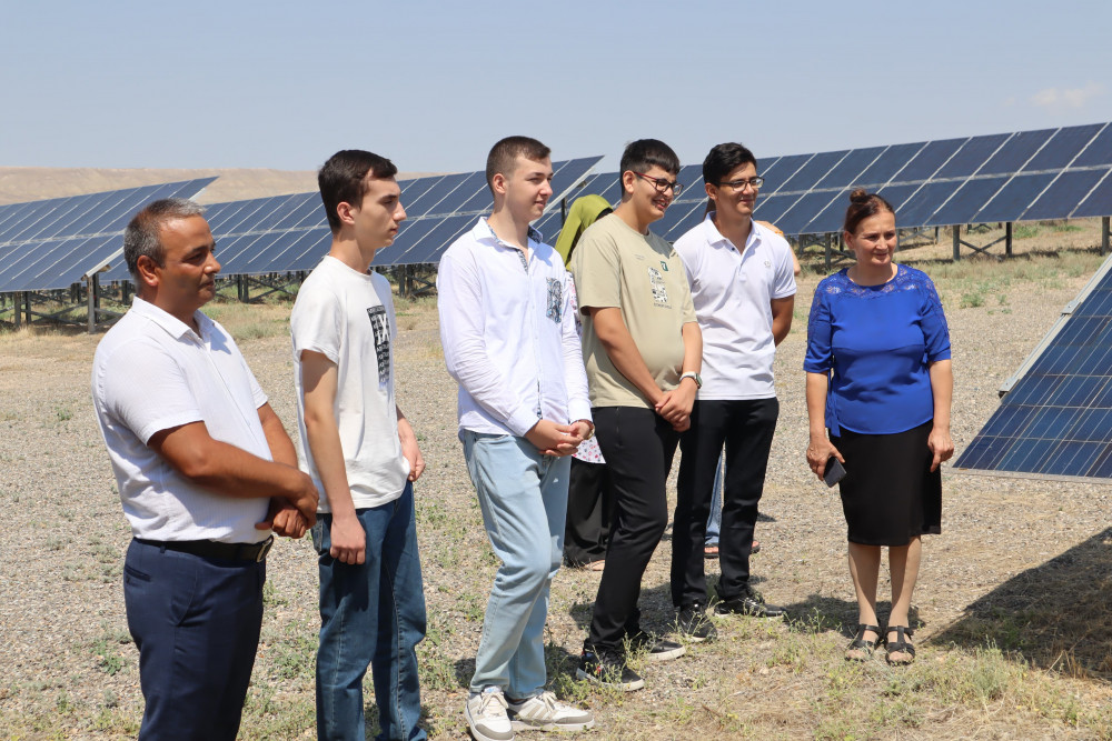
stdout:
POLYGON ((290 314, 301 470, 320 489, 317 735, 363 739, 371 668, 379 738, 419 741, 425 593, 413 482, 425 468, 398 408, 390 283, 368 272, 406 218, 388 159, 344 150, 317 174, 332 232, 290 314))

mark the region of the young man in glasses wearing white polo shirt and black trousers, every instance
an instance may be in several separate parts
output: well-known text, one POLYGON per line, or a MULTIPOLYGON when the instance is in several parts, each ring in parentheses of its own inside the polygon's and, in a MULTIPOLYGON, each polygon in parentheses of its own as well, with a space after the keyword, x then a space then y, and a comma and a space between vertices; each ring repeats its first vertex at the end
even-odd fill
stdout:
POLYGON ((753 153, 737 143, 714 147, 703 162, 703 180, 715 209, 675 243, 703 332, 703 385, 681 442, 672 534, 672 601, 679 629, 695 640, 707 630, 704 535, 723 443, 715 611, 783 614, 749 585, 749 553, 780 412, 773 359, 792 327, 795 301, 791 247, 753 221, 763 181, 753 153))

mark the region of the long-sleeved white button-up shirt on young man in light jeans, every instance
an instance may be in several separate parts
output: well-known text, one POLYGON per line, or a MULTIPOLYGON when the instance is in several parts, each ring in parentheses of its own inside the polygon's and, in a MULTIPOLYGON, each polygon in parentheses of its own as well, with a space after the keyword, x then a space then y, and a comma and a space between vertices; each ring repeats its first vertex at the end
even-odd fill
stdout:
POLYGON ((486 219, 437 269, 440 342, 459 382, 459 429, 523 437, 538 420, 590 419, 570 276, 529 230, 529 256, 486 219))

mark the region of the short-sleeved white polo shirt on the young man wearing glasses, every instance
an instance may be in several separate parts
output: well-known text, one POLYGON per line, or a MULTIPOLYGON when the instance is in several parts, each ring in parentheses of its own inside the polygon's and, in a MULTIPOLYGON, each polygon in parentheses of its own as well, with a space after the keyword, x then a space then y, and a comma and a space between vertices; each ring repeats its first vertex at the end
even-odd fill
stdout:
POLYGON ((772 300, 795 296, 792 248, 756 221, 738 250, 722 236, 713 213, 673 246, 684 262, 703 332, 699 399, 771 399, 772 300))

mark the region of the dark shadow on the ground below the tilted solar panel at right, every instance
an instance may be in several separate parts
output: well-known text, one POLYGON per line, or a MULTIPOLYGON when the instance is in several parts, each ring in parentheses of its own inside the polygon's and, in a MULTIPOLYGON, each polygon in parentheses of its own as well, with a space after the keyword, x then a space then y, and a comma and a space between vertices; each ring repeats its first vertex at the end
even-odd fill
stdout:
POLYGON ((1112 672, 1112 528, 965 608, 932 643, 995 645, 1043 669, 1112 672))

